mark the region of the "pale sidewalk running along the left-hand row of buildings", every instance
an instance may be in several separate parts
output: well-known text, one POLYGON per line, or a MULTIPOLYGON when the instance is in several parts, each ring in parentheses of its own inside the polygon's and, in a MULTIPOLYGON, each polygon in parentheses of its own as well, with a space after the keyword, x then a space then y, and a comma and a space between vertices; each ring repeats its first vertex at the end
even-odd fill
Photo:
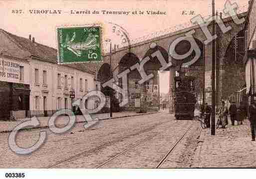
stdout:
MULTIPOLYGON (((125 118, 125 117, 132 117, 132 116, 149 115, 149 114, 155 114, 155 113, 159 113, 159 112, 148 112, 148 113, 119 112, 119 113, 113 113, 112 118, 110 118, 109 113, 104 113, 104 114, 93 114, 91 115, 91 117, 92 119, 95 119, 97 117, 99 120, 107 120, 107 119, 125 118)), ((85 122, 85 119, 83 116, 75 116, 75 117, 76 117, 76 123, 85 122)), ((48 120, 50 119, 50 117, 37 117, 37 119, 40 122, 40 125, 38 127, 28 127, 25 129, 48 127, 48 120)), ((17 121, 0 121, 0 133, 11 132, 17 125, 28 120, 30 120, 30 118, 19 119, 17 121)), ((69 118, 67 116, 61 116, 56 119, 55 125, 58 127, 66 126, 68 124, 68 121, 69 121, 69 118)))

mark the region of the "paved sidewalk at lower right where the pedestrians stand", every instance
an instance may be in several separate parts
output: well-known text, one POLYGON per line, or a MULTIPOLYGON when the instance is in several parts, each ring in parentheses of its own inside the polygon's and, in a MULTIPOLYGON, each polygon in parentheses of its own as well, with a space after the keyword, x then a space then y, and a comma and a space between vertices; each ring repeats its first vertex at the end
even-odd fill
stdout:
MULTIPOLYGON (((237 124, 237 122, 236 122, 237 124)), ((252 142, 250 122, 217 129, 211 136, 204 129, 198 140, 193 168, 251 168, 256 167, 256 142, 252 142)))

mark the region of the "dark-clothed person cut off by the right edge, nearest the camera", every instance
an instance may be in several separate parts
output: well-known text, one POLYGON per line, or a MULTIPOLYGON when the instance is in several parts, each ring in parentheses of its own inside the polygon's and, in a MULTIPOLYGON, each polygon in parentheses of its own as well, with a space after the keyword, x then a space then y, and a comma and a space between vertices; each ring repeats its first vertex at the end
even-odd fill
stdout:
POLYGON ((256 96, 253 97, 251 105, 249 106, 249 120, 251 123, 252 141, 255 141, 256 132, 256 96))

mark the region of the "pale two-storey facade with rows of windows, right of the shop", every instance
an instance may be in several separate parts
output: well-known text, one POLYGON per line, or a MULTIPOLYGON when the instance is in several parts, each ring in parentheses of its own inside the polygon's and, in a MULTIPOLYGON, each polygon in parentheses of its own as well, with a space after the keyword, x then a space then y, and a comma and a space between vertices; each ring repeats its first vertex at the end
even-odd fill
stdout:
POLYGON ((94 75, 65 65, 30 60, 30 113, 32 116, 49 116, 56 110, 72 109, 80 100, 80 108, 94 108, 92 100, 82 99, 97 88, 94 75))

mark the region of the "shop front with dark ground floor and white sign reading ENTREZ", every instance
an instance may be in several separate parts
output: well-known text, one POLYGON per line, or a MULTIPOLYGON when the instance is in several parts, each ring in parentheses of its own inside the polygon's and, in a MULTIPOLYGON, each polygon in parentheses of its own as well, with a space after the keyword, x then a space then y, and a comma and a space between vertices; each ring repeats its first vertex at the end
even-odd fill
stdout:
POLYGON ((29 117, 29 64, 0 56, 0 120, 29 117))

